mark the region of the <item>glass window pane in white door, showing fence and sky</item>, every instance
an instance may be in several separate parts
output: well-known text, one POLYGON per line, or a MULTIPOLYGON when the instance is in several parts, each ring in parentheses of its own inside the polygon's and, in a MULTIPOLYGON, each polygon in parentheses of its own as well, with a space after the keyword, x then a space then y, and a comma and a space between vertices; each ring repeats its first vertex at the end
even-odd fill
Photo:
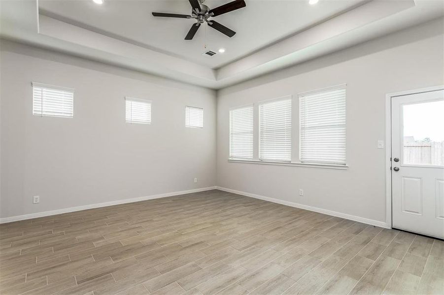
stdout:
POLYGON ((444 166, 444 100, 403 106, 403 164, 444 166))

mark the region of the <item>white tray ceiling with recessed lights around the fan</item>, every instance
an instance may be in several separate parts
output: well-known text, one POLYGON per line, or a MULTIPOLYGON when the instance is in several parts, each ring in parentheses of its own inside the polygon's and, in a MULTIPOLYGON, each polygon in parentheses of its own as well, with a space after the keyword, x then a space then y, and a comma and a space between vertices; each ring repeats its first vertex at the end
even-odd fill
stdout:
POLYGON ((319 0, 309 5, 308 0, 246 0, 246 7, 214 18, 237 31, 233 38, 205 25, 191 41, 184 37, 193 20, 155 18, 152 11, 189 14, 190 4, 2 0, 0 36, 219 89, 442 17, 444 1, 319 0), (226 52, 202 56, 205 44, 226 52))

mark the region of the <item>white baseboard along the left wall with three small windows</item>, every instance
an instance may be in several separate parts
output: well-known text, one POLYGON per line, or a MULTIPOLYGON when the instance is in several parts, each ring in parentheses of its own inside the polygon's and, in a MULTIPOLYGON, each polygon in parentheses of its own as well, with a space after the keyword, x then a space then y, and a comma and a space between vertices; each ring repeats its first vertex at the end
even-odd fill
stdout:
POLYGON ((138 198, 132 198, 132 199, 124 199, 124 200, 117 200, 117 201, 111 201, 111 202, 105 202, 105 203, 92 204, 92 205, 69 207, 69 208, 63 208, 63 209, 57 209, 57 210, 51 210, 51 211, 37 212, 37 213, 31 213, 31 214, 25 214, 25 215, 4 217, 4 218, 0 218, 0 224, 7 223, 7 222, 13 222, 13 221, 19 221, 19 220, 25 220, 25 219, 32 219, 32 218, 37 218, 37 217, 57 215, 57 214, 62 214, 62 213, 74 212, 74 211, 81 211, 81 210, 86 210, 86 209, 108 207, 108 206, 119 205, 119 204, 127 204, 127 203, 134 203, 134 202, 145 201, 145 200, 153 200, 153 199, 166 198, 166 197, 177 196, 177 195, 197 193, 197 192, 203 192, 203 191, 212 190, 212 189, 216 189, 216 187, 210 186, 210 187, 189 189, 189 190, 184 190, 184 191, 177 191, 177 192, 172 192, 172 193, 151 195, 151 196, 146 196, 146 197, 138 197, 138 198))

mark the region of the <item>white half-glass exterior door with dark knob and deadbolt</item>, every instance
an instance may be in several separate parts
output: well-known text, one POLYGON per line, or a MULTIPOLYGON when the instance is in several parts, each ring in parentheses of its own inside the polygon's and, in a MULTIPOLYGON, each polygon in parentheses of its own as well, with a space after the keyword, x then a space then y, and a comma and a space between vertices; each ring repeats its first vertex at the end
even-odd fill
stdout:
POLYGON ((392 226, 444 238, 444 90, 392 97, 392 226))

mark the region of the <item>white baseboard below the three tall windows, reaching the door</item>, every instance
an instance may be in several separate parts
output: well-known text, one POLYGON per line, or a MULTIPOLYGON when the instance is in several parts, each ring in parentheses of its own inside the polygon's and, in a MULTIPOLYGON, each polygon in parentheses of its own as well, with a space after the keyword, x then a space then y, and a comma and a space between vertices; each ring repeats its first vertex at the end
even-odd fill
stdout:
POLYGON ((255 198, 255 199, 261 199, 261 200, 264 200, 264 201, 269 201, 269 202, 273 202, 273 203, 277 203, 277 204, 281 204, 281 205, 286 205, 286 206, 306 209, 306 210, 309 210, 309 211, 314 211, 314 212, 318 212, 318 213, 322 213, 322 214, 327 214, 327 215, 332 215, 332 216, 336 216, 336 217, 341 217, 341 218, 344 218, 344 219, 358 221, 358 222, 362 222, 362 223, 365 223, 365 224, 370 224, 370 225, 374 225, 374 226, 378 226, 378 227, 383 227, 383 228, 387 228, 387 229, 390 228, 390 226, 386 222, 383 222, 383 221, 377 221, 377 220, 373 220, 373 219, 368 219, 368 218, 364 218, 364 217, 354 216, 354 215, 345 214, 345 213, 336 212, 336 211, 327 210, 327 209, 322 209, 322 208, 318 208, 318 207, 312 207, 312 206, 303 205, 303 204, 299 204, 299 203, 288 202, 288 201, 283 201, 283 200, 279 200, 279 199, 275 199, 275 198, 270 198, 270 197, 265 197, 265 196, 261 196, 261 195, 246 193, 246 192, 234 190, 234 189, 231 189, 231 188, 225 188, 225 187, 216 186, 216 189, 221 190, 221 191, 226 191, 226 192, 229 192, 229 193, 233 193, 233 194, 238 194, 238 195, 246 196, 246 197, 251 197, 251 198, 255 198))

